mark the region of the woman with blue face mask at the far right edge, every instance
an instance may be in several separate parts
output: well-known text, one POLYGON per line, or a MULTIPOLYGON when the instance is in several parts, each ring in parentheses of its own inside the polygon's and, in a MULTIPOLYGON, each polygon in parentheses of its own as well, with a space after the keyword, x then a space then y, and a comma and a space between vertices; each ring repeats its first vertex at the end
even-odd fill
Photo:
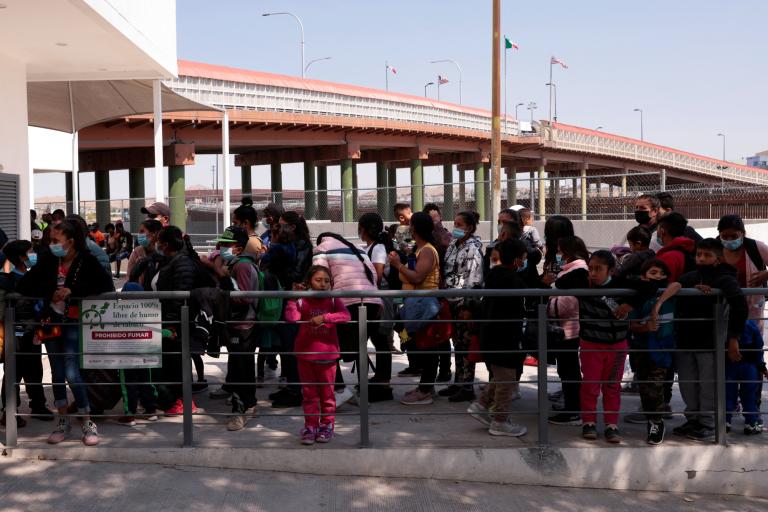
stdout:
MULTIPOLYGON (((742 288, 762 288, 768 281, 768 245, 747 238, 744 221, 736 214, 725 215, 717 223, 720 242, 723 244, 725 263, 736 269, 736 278, 742 288)), ((763 308, 765 297, 750 295, 747 297, 749 318, 763 328, 763 308)))

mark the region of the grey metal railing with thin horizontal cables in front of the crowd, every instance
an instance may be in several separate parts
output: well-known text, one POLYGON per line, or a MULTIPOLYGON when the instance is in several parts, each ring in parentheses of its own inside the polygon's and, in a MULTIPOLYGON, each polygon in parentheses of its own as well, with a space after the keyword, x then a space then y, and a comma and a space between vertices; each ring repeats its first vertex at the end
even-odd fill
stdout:
MULTIPOLYGON (((765 295, 768 293, 768 289, 745 289, 744 290, 745 295, 765 295)), ((719 297, 719 292, 717 290, 713 290, 713 295, 719 297)), ((275 291, 275 292, 231 292, 232 298, 255 298, 255 299, 262 299, 262 298, 283 298, 283 299, 298 299, 298 298, 321 298, 321 297, 336 297, 336 298, 354 298, 354 299, 364 299, 364 298, 389 298, 389 299, 407 299, 407 298, 415 298, 415 297, 438 297, 438 298, 463 298, 466 300, 472 300, 472 299, 488 299, 488 298, 509 298, 509 297, 522 297, 525 298, 526 301, 531 301, 531 307, 529 308, 529 311, 535 311, 534 314, 529 315, 528 318, 519 318, 519 319, 498 319, 498 320, 483 320, 483 319, 473 319, 470 320, 470 322, 474 323, 493 323, 493 322, 519 322, 519 323, 527 323, 528 325, 531 325, 533 322, 537 324, 537 333, 538 333, 538 339, 537 341, 537 347, 535 351, 533 351, 533 354, 538 358, 538 366, 537 366, 537 375, 535 380, 530 381, 520 381, 521 383, 525 382, 531 382, 536 383, 537 386, 537 408, 535 410, 512 410, 510 411, 510 415, 512 417, 519 415, 536 415, 537 416, 537 435, 538 435, 538 443, 542 446, 549 445, 551 443, 550 441, 550 431, 549 431, 549 424, 548 424, 548 414, 549 414, 549 401, 548 401, 548 395, 547 395, 547 385, 552 382, 558 382, 557 380, 550 380, 547 375, 547 360, 548 355, 550 355, 550 352, 552 350, 556 350, 559 352, 563 352, 564 350, 562 347, 558 347, 556 349, 552 349, 552 347, 548 347, 548 338, 547 338, 547 323, 551 322, 560 322, 563 320, 574 320, 574 319, 568 319, 568 318, 560 318, 560 319, 552 319, 548 318, 547 314, 547 300, 549 297, 561 297, 561 296, 576 296, 579 298, 584 297, 627 297, 635 295, 635 292, 631 290, 605 290, 605 289, 587 289, 587 290, 539 290, 539 289, 528 289, 528 290, 439 290, 439 291, 377 291, 377 292, 353 292, 353 291, 347 291, 347 292, 293 292, 293 291, 275 291), (535 304, 535 305, 534 305, 535 304)), ((694 289, 684 289, 681 290, 678 294, 680 297, 692 297, 692 296, 702 296, 704 295, 702 292, 694 289)), ((94 297, 92 297, 94 298, 94 297)), ((184 300, 188 301, 190 299, 190 293, 189 292, 128 292, 128 293, 108 293, 99 295, 99 300, 125 300, 125 299, 160 299, 160 300, 166 300, 166 299, 173 299, 173 300, 184 300)), ((9 385, 6 386, 6 439, 5 444, 7 447, 15 447, 17 445, 17 425, 16 425, 16 419, 17 417, 23 416, 18 411, 18 403, 16 401, 16 393, 17 388, 19 387, 20 383, 17 381, 16 378, 16 362, 17 362, 17 356, 19 355, 28 355, 24 353, 18 353, 16 350, 16 344, 13 342, 16 336, 15 328, 19 324, 19 321, 17 321, 15 317, 15 308, 13 306, 13 301, 17 300, 18 297, 11 297, 11 302, 6 307, 5 312, 5 375, 4 379, 6 379, 6 383, 9 385)), ((359 376, 359 413, 357 414, 338 414, 337 416, 344 417, 344 416, 357 416, 359 419, 359 425, 360 425, 360 446, 369 446, 370 445, 370 417, 373 415, 411 415, 414 413, 409 413, 403 411, 397 412, 397 413, 387 413, 387 412, 376 412, 370 410, 370 404, 369 404, 369 389, 370 386, 381 386, 384 385, 379 382, 370 382, 368 377, 368 364, 369 364, 369 354, 371 354, 368 349, 368 339, 369 339, 369 333, 368 333, 368 326, 370 324, 376 325, 378 323, 381 323, 382 320, 376 320, 376 319, 369 319, 367 318, 367 309, 364 304, 360 304, 358 306, 358 330, 357 330, 357 342, 358 347, 355 352, 342 352, 342 354, 355 354, 357 356, 355 363, 357 364, 358 370, 358 376, 359 376)), ((686 318, 685 321, 691 322, 711 322, 714 325, 714 345, 711 349, 711 352, 714 353, 715 358, 715 379, 713 382, 704 382, 704 381, 697 381, 699 384, 708 385, 711 384, 714 386, 714 393, 715 393, 715 409, 713 411, 685 411, 686 413, 706 413, 706 414, 714 414, 715 416, 715 437, 716 442, 725 445, 727 443, 727 437, 726 437, 726 414, 731 414, 736 411, 726 411, 726 398, 725 398, 725 387, 726 384, 730 383, 731 381, 727 381, 725 377, 725 365, 726 365, 726 329, 725 329, 725 319, 726 319, 726 307, 725 303, 721 299, 717 299, 716 304, 714 306, 714 309, 711 313, 711 315, 707 315, 706 312, 702 312, 702 318, 696 318, 696 319, 690 319, 686 318)), ((580 319, 581 322, 589 322, 589 320, 580 319)), ((622 322, 627 320, 614 320, 615 322, 622 322)), ((457 323, 458 320, 452 319, 452 320, 432 320, 431 323, 439 323, 439 322, 451 322, 451 323, 457 323)), ((126 323, 122 322, 121 323, 126 323)), ((164 322, 167 323, 167 322, 164 322)), ((232 321, 228 323, 244 323, 243 321, 232 321)), ((281 324, 285 323, 282 321, 278 322, 253 322, 254 324, 266 326, 269 324, 281 324)), ((32 323, 31 325, 37 325, 32 323)), ((72 324, 69 324, 72 325, 72 324)), ((137 325, 146 325, 146 323, 137 322, 137 325)), ((165 354, 175 354, 175 355, 181 355, 181 365, 182 365, 182 381, 181 382, 166 382, 164 384, 181 384, 182 385, 182 400, 183 400, 183 414, 182 414, 182 423, 183 423, 183 445, 184 446, 193 446, 194 445, 194 437, 193 437, 193 423, 194 423, 194 417, 195 414, 192 411, 192 385, 193 385, 193 379, 192 379, 192 367, 191 367, 191 347, 190 347, 190 307, 185 302, 184 305, 181 308, 181 316, 180 321, 178 322, 179 325, 179 341, 180 341, 180 349, 181 352, 165 352, 165 354)), ((29 325, 28 325, 29 326, 29 325)), ((447 341, 447 340, 446 340, 447 341)), ((578 351, 578 348, 574 348, 573 351, 578 351)), ((606 349, 609 350, 609 349, 606 349)), ((653 349, 656 351, 663 350, 666 352, 672 352, 672 353, 678 353, 678 352, 706 352, 704 349, 653 349)), ((581 350, 584 352, 584 350, 581 350)), ((651 349, 628 349, 626 352, 649 352, 652 351, 651 349)), ((471 350, 471 349, 458 349, 453 351, 443 351, 443 350, 418 350, 417 354, 422 355, 436 355, 436 354, 472 354, 476 353, 477 350, 471 350)), ((483 352, 480 350, 481 353, 488 354, 489 352, 483 352)), ((503 354, 525 354, 530 353, 531 350, 526 350, 524 348, 513 348, 510 350, 504 350, 504 351, 498 351, 498 352, 490 352, 493 353, 503 353, 503 354)), ((277 351, 277 352, 259 352, 260 354, 270 354, 270 353, 282 353, 282 354, 292 354, 292 355, 301 355, 301 354, 307 354, 306 352, 283 352, 283 351, 277 351)), ((382 353, 392 353, 389 351, 377 351, 375 352, 377 354, 382 353)), ((83 355, 82 352, 78 353, 79 355, 83 355)), ((228 355, 242 355, 242 354, 248 354, 251 357, 255 357, 255 354, 253 352, 228 352, 228 355)), ((56 355, 56 354, 49 354, 50 355, 56 355)), ((566 383, 568 381, 565 381, 566 383)), ((586 381, 583 381, 586 382, 586 381)), ((595 381, 604 383, 606 381, 595 381)), ((611 381, 614 384, 616 384, 616 381, 611 381)), ((621 382, 624 382, 621 380, 621 382)), ((670 384, 673 381, 667 381, 670 384)), ((678 382, 679 379, 678 379, 678 382)), ((499 382, 500 384, 504 384, 504 382, 499 382)), ((657 381, 657 383, 659 383, 657 381)), ((53 383, 41 383, 43 385, 49 386, 53 383)), ((255 384, 255 383, 230 383, 230 384, 255 384)), ((299 385, 312 385, 316 383, 306 383, 306 382, 295 382, 295 383, 288 383, 288 384, 299 384, 299 385)), ((409 385, 410 383, 391 383, 393 386, 398 385, 409 385)), ((428 385, 428 386, 434 386, 435 384, 439 384, 438 382, 422 382, 421 385, 428 385)), ((482 382, 473 381, 471 383, 460 383, 460 384, 466 384, 471 386, 478 386, 480 384, 483 384, 482 382)), ((485 384, 488 384, 487 382, 485 384)), ((88 384, 88 385, 114 385, 114 384, 88 384)), ((390 384, 387 384, 390 385, 390 384)), ((582 413, 584 411, 565 411, 570 413, 582 413)), ((613 411, 612 411, 613 412, 613 411)), ((615 411, 617 413, 626 413, 629 411, 615 411)), ((681 413, 683 411, 671 411, 674 413, 681 413)), ((79 413, 82 415, 82 413, 79 413)), ((239 413, 213 413, 213 412, 205 412, 201 413, 208 416, 214 416, 214 417, 227 417, 232 416, 233 414, 239 414, 239 413)), ((457 414, 467 414, 463 411, 463 408, 461 410, 456 411, 449 411, 449 412, 435 412, 435 413, 425 413, 424 411, 419 411, 415 414, 418 415, 428 415, 428 414, 435 414, 435 415, 457 415, 457 414)), ((762 413, 758 411, 758 414, 762 416, 762 413)), ((73 416, 77 416, 78 413, 73 414, 73 416)), ((99 417, 94 415, 95 417, 99 417)), ((101 415, 103 417, 110 417, 115 416, 111 414, 101 415)), ((261 417, 269 417, 271 415, 260 415, 261 417)), ((305 416, 305 414, 295 413, 290 414, 290 416, 305 416)))

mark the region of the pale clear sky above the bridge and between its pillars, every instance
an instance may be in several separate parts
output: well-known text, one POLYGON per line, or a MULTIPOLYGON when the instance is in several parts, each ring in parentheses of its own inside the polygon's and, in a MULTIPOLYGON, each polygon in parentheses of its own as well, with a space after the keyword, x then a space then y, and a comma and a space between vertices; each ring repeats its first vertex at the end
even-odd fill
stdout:
MULTIPOLYGON (((502 9, 502 32, 520 46, 508 51, 510 112, 535 101, 536 117, 547 117, 544 84, 556 55, 568 64, 554 76, 561 122, 639 137, 633 109, 642 108, 651 142, 720 157, 721 132, 727 159, 742 163, 768 149, 765 0, 502 0, 502 9)), ((298 26, 287 16, 261 16, 268 11, 302 18, 307 62, 332 57, 313 64, 312 78, 383 89, 388 60, 397 69, 391 90, 423 94, 424 84, 442 74, 450 80, 442 99, 458 101, 455 67, 429 64, 450 58, 463 69, 463 102, 490 107, 491 0, 178 0, 179 58, 299 74, 298 26)), ((521 108, 520 117, 528 111, 521 108)), ((210 186, 212 162, 198 157, 188 183, 210 186)), ((286 188, 300 187, 294 176, 301 172, 286 167, 286 188)), ((365 169, 361 187, 373 185, 365 169)), ((124 174, 114 174, 113 197, 125 194, 124 174)), ((335 174, 331 187, 338 185, 335 174)), ((254 186, 268 186, 268 176, 256 168, 254 186)), ((426 179, 439 175, 428 171, 426 179)), ((38 195, 46 192, 38 188, 38 195)), ((84 198, 92 189, 85 175, 84 198)))

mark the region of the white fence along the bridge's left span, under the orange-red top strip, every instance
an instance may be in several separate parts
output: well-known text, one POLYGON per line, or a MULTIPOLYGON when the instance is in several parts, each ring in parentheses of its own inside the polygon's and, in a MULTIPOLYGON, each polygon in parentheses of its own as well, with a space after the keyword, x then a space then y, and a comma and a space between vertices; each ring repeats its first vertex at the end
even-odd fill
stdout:
MULTIPOLYGON (((490 116, 459 108, 452 109, 447 104, 437 102, 419 104, 395 99, 194 76, 180 76, 166 80, 165 85, 176 93, 200 103, 234 110, 385 119, 491 131, 490 116)), ((502 132, 506 135, 519 135, 518 121, 511 118, 506 122, 502 120, 502 132)))

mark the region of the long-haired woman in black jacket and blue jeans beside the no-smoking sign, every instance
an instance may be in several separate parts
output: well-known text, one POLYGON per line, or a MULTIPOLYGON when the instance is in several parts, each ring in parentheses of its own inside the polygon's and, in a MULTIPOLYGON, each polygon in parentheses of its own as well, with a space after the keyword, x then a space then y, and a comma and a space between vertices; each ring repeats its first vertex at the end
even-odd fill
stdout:
POLYGON ((114 289, 109 272, 88 251, 85 231, 69 220, 53 227, 50 252, 45 253, 19 281, 21 294, 45 298, 51 321, 64 323, 60 336, 45 340, 54 383, 54 406, 59 413, 56 428, 48 436, 51 444, 64 441, 72 430, 66 416, 65 382, 72 389, 78 416, 83 417, 83 443, 86 446, 99 443, 96 424, 89 415, 87 388, 80 375, 79 299, 114 289))

